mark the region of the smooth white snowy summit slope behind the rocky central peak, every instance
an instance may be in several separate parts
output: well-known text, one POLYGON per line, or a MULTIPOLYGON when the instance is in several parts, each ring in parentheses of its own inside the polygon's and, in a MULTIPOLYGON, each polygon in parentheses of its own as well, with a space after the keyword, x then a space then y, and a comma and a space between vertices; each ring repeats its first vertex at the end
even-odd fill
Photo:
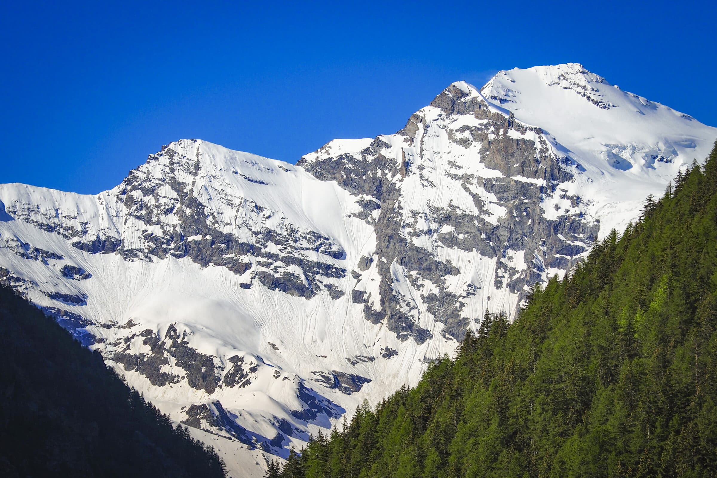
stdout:
POLYGON ((501 71, 481 92, 554 135, 586 168, 581 190, 597 205, 602 234, 624 229, 648 194, 659 196, 678 168, 703 161, 715 139, 715 128, 577 63, 501 71))

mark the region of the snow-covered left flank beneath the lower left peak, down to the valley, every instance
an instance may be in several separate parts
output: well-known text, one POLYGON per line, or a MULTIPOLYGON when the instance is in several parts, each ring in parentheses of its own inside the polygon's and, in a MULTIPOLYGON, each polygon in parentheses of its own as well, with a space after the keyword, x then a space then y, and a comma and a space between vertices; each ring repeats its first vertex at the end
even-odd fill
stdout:
POLYGON ((4 184, 0 198, 0 276, 174 419, 224 436, 224 448, 257 449, 252 464, 262 454, 285 456, 365 397, 415 381, 423 363, 414 357, 451 350, 402 343, 364 320, 340 291, 352 280, 343 265, 358 260, 374 233, 350 216, 359 208, 346 191, 288 163, 186 140, 97 196, 4 184), (198 221, 198 210, 209 220, 198 221), (175 243, 179 229, 184 249, 175 243), (220 230, 232 237, 205 234, 220 230), (242 241, 264 245, 241 255, 242 241), (214 249, 222 254, 206 262, 214 249), (279 289, 257 279, 267 272, 279 289), (171 330, 191 350, 181 340, 170 345, 171 330), (402 358, 379 365, 382 349, 402 358), (204 370, 183 368, 182 355, 204 370), (196 404, 211 413, 195 407, 188 415, 196 404), (222 424, 226 417, 234 429, 222 424))

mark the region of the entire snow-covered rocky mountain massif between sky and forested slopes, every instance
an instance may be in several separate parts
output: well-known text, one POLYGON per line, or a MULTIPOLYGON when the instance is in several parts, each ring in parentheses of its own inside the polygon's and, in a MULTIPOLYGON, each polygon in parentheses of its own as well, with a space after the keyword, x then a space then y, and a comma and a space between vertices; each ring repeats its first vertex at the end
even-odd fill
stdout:
POLYGON ((0 280, 231 472, 515 317, 715 138, 578 64, 500 72, 296 165, 180 140, 94 196, 0 185, 0 280))

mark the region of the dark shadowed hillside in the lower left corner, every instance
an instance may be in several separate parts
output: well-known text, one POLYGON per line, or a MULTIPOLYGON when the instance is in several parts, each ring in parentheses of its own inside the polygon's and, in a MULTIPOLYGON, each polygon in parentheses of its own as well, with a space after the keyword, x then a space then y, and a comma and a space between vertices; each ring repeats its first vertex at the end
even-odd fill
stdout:
POLYGON ((0 286, 0 476, 224 477, 211 446, 0 286))

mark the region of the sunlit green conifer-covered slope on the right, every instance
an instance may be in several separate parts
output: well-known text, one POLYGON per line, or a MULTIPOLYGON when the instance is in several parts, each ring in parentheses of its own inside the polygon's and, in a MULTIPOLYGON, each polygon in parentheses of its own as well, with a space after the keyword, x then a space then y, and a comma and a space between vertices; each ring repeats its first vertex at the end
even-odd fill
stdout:
POLYGON ((717 145, 513 324, 269 477, 717 476, 717 145))

